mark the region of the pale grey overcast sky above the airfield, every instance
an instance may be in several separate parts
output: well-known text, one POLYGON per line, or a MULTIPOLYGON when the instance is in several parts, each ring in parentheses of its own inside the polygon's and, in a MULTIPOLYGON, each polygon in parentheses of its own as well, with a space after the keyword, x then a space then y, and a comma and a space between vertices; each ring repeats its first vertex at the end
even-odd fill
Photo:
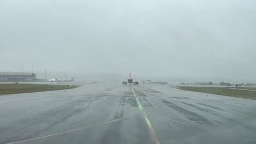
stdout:
POLYGON ((63 78, 65 70, 127 76, 132 70, 139 76, 256 83, 255 5, 255 0, 1 0, 0 71, 24 67, 43 73, 46 67, 63 78))

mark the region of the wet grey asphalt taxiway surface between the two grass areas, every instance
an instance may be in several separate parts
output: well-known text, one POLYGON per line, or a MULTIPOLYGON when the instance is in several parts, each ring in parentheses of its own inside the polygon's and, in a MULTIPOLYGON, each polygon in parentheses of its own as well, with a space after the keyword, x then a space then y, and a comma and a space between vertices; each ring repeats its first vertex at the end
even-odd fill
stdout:
POLYGON ((119 83, 0 95, 0 143, 11 142, 256 143, 256 100, 119 83))

